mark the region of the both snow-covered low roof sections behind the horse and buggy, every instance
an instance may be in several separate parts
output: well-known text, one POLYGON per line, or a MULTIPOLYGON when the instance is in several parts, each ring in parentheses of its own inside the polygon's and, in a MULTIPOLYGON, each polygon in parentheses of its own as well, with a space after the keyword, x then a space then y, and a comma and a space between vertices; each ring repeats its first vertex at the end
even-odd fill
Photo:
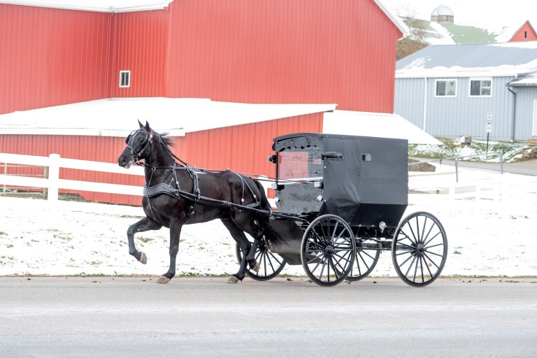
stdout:
POLYGON ((399 115, 334 110, 336 104, 252 104, 210 99, 99 99, 0 115, 0 134, 127 136, 150 122, 172 136, 279 118, 323 113, 323 133, 406 138, 409 143, 439 144, 399 115))

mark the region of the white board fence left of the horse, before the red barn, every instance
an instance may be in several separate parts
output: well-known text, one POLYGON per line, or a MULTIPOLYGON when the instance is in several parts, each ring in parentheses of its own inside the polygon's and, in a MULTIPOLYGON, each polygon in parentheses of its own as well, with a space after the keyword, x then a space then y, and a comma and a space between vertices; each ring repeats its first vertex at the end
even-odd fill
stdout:
POLYGON ((59 189, 140 196, 143 194, 143 187, 141 186, 108 184, 103 182, 87 182, 83 180, 68 180, 59 178, 60 168, 143 176, 143 169, 138 166, 134 166, 131 167, 131 169, 126 170, 117 164, 67 159, 61 158, 57 154, 51 154, 48 157, 36 157, 31 155, 0 153, 0 163, 48 167, 48 178, 31 178, 27 176, 13 176, 2 173, 0 174, 0 185, 41 187, 47 189, 49 201, 57 201, 59 189))

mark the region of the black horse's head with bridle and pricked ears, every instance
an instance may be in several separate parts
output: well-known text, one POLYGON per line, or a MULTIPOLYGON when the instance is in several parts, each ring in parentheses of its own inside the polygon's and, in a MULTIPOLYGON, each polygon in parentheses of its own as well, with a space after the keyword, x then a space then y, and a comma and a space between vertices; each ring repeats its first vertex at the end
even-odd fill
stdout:
POLYGON ((140 159, 147 159, 153 148, 154 132, 149 127, 149 123, 140 124, 140 128, 136 131, 131 131, 131 134, 125 139, 127 146, 117 158, 117 163, 123 168, 129 169, 134 162, 140 159))

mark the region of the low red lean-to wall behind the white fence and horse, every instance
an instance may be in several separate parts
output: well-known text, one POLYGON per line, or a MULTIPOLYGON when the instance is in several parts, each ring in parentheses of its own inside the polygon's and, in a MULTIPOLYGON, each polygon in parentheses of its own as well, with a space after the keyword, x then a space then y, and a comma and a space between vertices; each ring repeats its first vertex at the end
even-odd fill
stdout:
MULTIPOLYGON (((271 155, 271 145, 275 136, 320 131, 322 131, 322 113, 314 113, 188 133, 185 137, 173 138, 173 152, 197 168, 217 170, 229 168, 233 171, 273 177, 274 166, 267 162, 266 158, 271 155)), ((48 157, 51 153, 57 153, 63 158, 117 163, 117 157, 124 148, 124 138, 116 137, 0 135, 0 152, 22 155, 48 157)), ((10 173, 40 175, 43 169, 10 169, 10 173)), ((139 186, 144 182, 139 176, 75 169, 61 169, 60 178, 139 186)), ((60 192, 80 194, 89 201, 141 205, 141 196, 72 190, 60 192)))

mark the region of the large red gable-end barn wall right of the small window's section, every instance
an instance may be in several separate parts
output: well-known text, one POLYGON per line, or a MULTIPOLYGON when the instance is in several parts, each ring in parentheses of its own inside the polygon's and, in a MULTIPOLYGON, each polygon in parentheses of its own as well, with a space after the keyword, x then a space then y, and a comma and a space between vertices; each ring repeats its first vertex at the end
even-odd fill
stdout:
POLYGON ((166 96, 392 113, 399 29, 373 0, 183 0, 166 96))

